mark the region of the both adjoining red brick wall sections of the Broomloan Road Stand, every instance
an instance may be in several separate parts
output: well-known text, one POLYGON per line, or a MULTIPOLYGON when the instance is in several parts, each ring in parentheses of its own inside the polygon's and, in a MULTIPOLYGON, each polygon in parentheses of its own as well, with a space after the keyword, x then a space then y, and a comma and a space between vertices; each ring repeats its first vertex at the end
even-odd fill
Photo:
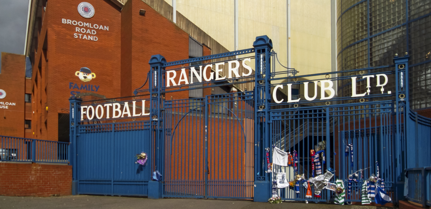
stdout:
MULTIPOLYGON (((132 95, 147 79, 151 55, 161 54, 167 61, 188 58, 188 34, 141 0, 129 0, 122 10, 110 0, 87 2, 94 6, 92 18, 79 15, 80 2, 47 4, 34 58, 31 138, 57 141, 58 114, 69 113, 69 96, 92 92, 71 89, 69 83, 100 86, 93 92, 107 98, 132 95), (140 15, 140 9, 146 14, 140 15), (106 25, 109 31, 96 30, 97 41, 75 38, 79 25, 63 24, 63 18, 106 25), (96 78, 79 80, 75 71, 81 67, 90 68, 96 78)), ((210 50, 205 49, 204 54, 210 50)), ((188 92, 178 92, 175 98, 188 98, 188 92)))

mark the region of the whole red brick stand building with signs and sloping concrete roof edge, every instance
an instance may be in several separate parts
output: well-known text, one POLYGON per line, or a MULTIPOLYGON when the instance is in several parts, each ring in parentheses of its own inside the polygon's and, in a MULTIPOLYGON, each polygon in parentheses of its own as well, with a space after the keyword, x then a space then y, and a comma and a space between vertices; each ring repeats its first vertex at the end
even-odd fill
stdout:
MULTIPOLYGON (((81 1, 32 1, 26 43, 26 56, 32 66, 31 80, 24 85, 25 57, 21 55, 22 63, 16 68, 22 66, 22 75, 18 76, 22 79, 15 84, 21 88, 17 98, 24 98, 24 93, 31 94, 28 104, 31 107, 26 106, 28 114, 25 115, 25 120, 31 120, 27 126, 31 129, 25 129, 25 135, 24 128, 19 128, 21 135, 12 133, 12 129, 0 135, 69 141, 68 98, 71 95, 130 96, 145 82, 151 55, 161 54, 166 60, 175 61, 227 51, 181 14, 178 13, 177 22, 182 24, 173 23, 172 9, 166 14, 169 4, 163 0, 129 0, 125 5, 116 0, 88 0, 87 3, 91 5, 84 6, 84 11, 81 1), (84 12, 79 12, 78 7, 84 12), (190 54, 191 44, 201 47, 199 55, 190 54), (28 91, 24 92, 24 88, 28 91)), ((5 59, 4 64, 9 65, 6 62, 9 60, 5 59)), ((3 69, 13 71, 7 66, 3 69)), ((212 92, 226 92, 226 89, 229 88, 212 92)), ((211 89, 205 89, 203 94, 210 92, 211 89)), ((189 98, 189 95, 186 91, 175 97, 189 98)), ((19 123, 24 119, 24 101, 16 104, 22 106, 22 116, 15 118, 16 122, 5 123, 22 127, 19 123)))

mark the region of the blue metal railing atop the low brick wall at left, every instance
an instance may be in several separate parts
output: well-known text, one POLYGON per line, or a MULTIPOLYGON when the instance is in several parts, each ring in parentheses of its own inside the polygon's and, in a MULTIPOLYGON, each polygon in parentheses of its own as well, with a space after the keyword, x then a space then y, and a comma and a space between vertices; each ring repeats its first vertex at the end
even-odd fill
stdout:
POLYGON ((68 142, 0 135, 0 161, 68 163, 68 142))

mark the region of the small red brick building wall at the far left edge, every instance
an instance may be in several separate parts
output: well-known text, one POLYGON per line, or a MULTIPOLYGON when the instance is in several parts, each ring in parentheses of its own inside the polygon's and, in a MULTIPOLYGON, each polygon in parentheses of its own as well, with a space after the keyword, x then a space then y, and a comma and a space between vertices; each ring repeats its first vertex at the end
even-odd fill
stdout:
POLYGON ((25 56, 1 53, 0 89, 6 97, 0 102, 12 102, 16 105, 0 104, 0 135, 24 137, 25 114, 25 56))

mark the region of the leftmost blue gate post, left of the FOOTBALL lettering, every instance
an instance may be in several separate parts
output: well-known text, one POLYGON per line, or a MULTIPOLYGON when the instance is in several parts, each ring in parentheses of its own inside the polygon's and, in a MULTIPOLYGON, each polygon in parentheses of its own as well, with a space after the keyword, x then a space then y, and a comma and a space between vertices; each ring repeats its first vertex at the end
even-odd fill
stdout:
POLYGON ((75 97, 69 98, 69 148, 68 148, 68 160, 69 165, 72 166, 72 195, 78 194, 78 178, 76 176, 76 141, 78 137, 78 120, 81 110, 78 105, 81 104, 82 99, 75 97))

